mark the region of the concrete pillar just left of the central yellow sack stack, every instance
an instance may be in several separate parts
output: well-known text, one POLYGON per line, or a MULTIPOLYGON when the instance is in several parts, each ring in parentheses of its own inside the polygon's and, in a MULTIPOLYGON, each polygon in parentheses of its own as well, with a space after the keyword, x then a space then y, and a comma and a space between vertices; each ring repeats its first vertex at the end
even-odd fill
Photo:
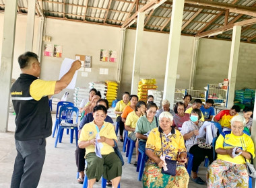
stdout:
POLYGON ((135 37, 135 50, 133 58, 133 76, 131 79, 131 94, 137 95, 139 85, 139 72, 141 63, 141 53, 143 50, 143 29, 144 29, 145 13, 139 12, 137 16, 137 29, 135 37))

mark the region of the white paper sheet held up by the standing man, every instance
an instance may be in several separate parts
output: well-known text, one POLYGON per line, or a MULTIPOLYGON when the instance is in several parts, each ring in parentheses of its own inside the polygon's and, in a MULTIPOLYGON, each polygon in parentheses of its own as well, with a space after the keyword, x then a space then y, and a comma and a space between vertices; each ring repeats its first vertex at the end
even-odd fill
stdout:
MULTIPOLYGON (((70 58, 65 58, 63 60, 63 62, 61 64, 61 71, 59 73, 59 79, 61 79, 61 77, 63 77, 63 75, 65 75, 67 73, 67 71, 69 71, 69 69, 74 61, 75 60, 70 59, 70 58)), ((73 79, 71 80, 69 85, 66 87, 66 89, 75 89, 76 78, 77 78, 77 71, 75 71, 75 75, 73 75, 73 79)))

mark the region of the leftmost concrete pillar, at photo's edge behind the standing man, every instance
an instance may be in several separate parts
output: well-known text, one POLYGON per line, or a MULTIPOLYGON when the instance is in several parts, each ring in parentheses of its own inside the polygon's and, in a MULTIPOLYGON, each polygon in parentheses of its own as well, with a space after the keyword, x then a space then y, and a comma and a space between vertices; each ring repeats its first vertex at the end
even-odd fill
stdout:
POLYGON ((11 74, 13 65, 13 51, 15 40, 15 26, 18 0, 5 1, 5 17, 3 23, 3 43, 0 67, 0 132, 7 132, 9 119, 9 100, 11 74))

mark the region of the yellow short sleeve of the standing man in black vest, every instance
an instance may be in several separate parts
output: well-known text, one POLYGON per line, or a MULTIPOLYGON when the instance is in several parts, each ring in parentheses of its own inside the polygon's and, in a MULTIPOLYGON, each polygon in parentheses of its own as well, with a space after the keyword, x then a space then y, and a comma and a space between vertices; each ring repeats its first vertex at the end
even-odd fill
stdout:
POLYGON ((30 85, 30 95, 36 101, 47 95, 53 95, 55 92, 56 81, 43 81, 36 79, 30 85))

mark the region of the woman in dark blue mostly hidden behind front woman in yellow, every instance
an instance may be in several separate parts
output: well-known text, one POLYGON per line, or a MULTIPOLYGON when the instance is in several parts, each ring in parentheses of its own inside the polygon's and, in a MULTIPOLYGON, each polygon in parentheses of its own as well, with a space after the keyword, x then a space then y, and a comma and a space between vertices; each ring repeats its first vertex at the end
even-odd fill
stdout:
MULTIPOLYGON (((106 99, 100 99, 97 101, 96 105, 104 105, 106 109, 108 109, 108 100, 106 99)), ((84 118, 81 120, 79 124, 79 132, 78 132, 78 138, 81 133, 82 128, 85 124, 88 124, 94 120, 93 113, 87 113, 84 118)), ((113 124, 112 118, 110 118, 108 115, 106 115, 105 122, 108 122, 110 124, 113 124)), ((75 150, 75 162, 77 166, 77 172, 79 172, 79 177, 77 179, 77 183, 83 184, 84 183, 84 167, 86 165, 86 162, 84 161, 84 155, 86 154, 86 150, 84 148, 79 148, 77 146, 75 150)))

